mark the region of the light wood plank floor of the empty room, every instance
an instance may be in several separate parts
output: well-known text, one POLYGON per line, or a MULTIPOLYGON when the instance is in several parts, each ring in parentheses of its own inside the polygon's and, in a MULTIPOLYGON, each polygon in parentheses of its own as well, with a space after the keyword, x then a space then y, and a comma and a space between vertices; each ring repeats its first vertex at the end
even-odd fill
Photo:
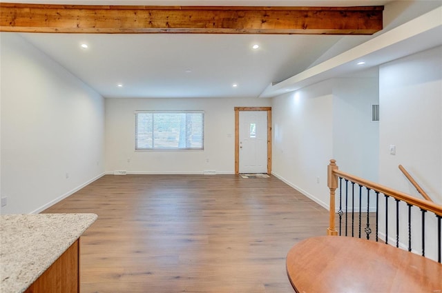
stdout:
POLYGON ((294 292, 287 252, 328 212, 282 181, 106 175, 46 213, 93 212, 81 292, 294 292))

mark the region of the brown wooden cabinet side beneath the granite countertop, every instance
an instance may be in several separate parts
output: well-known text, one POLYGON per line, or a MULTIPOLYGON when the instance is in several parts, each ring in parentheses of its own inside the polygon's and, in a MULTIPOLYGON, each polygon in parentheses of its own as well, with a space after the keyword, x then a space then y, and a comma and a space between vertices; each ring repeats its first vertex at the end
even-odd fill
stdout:
POLYGON ((80 239, 70 245, 25 293, 79 292, 79 241, 80 239))

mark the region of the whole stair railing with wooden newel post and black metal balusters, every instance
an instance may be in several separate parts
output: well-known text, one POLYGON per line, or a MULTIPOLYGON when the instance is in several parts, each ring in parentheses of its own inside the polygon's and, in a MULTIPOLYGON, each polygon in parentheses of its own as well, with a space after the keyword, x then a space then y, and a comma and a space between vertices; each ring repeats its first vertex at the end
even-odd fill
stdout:
MULTIPOLYGON (((381 195, 384 196, 384 207, 385 207, 385 243, 388 244, 389 235, 388 228, 389 223, 388 219, 388 203, 391 203, 391 199, 394 199, 394 204, 396 206, 396 247, 399 247, 399 224, 403 222, 400 221, 399 216, 399 203, 403 202, 407 205, 408 212, 408 251, 412 251, 412 207, 419 208, 421 212, 421 250, 422 256, 425 256, 425 214, 430 212, 436 216, 437 221, 437 260, 441 263, 441 219, 442 219, 442 205, 438 205, 432 201, 427 201, 425 199, 418 199, 410 194, 405 194, 404 192, 400 192, 398 190, 394 190, 392 188, 388 188, 385 185, 381 185, 378 183, 374 183, 372 181, 368 181, 362 179, 358 176, 354 176, 352 174, 348 174, 346 172, 340 171, 338 165, 336 165, 336 161, 334 159, 330 160, 330 163, 327 167, 327 185, 330 190, 330 214, 329 214, 329 228, 327 228, 328 235, 339 235, 339 236, 356 236, 354 230, 355 220, 354 217, 358 216, 358 237, 361 238, 361 230, 362 223, 365 221, 365 228, 363 229, 367 239, 369 239, 370 234, 372 233, 372 227, 370 227, 370 214, 374 214, 375 217, 375 240, 378 241, 378 230, 379 230, 379 220, 380 215, 382 214, 379 211, 379 203, 381 201, 381 195), (355 191, 356 189, 356 191, 355 191), (339 190, 338 196, 338 221, 339 221, 339 230, 336 230, 336 190, 339 190), (351 197, 349 197, 349 195, 351 197), (370 205, 370 198, 372 201, 375 201, 376 208, 372 211, 370 205), (344 203, 343 203, 344 201, 344 203), (349 201, 351 204, 349 205, 349 201), (363 210, 362 202, 365 201, 364 204, 367 205, 365 210, 363 210), (354 206, 356 205, 358 206, 354 206), (351 210, 351 212, 349 212, 351 210), (355 212, 356 211, 356 212, 355 212), (362 214, 366 213, 366 219, 362 219, 362 214), (345 217, 344 217, 345 215, 345 217), (352 220, 352 234, 348 233, 349 220, 348 216, 351 216, 352 220), (343 223, 344 221, 344 223, 343 223), (344 228, 342 227, 344 225, 344 228), (345 230, 345 231, 343 231, 345 230)), ((401 203, 401 205, 403 205, 401 203)), ((373 205, 373 204, 372 204, 373 205)), ((356 220, 357 222, 357 220, 356 220)), ((432 232, 433 233, 433 232, 432 232)))

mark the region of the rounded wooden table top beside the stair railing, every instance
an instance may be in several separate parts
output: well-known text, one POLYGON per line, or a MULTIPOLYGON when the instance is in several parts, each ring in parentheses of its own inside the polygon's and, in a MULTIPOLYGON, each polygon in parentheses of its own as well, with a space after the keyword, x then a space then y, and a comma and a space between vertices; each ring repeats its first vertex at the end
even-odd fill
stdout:
POLYGON ((298 293, 442 292, 442 265, 385 243, 345 236, 301 241, 287 254, 298 293))

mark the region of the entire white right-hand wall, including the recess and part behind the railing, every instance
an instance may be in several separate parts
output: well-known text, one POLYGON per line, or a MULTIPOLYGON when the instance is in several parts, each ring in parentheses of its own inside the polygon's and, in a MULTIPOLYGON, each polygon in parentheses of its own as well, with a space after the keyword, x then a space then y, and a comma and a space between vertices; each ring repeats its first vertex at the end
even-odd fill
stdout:
MULTIPOLYGON (((436 203, 442 203, 442 48, 381 66, 378 79, 331 79, 273 98, 273 174, 329 206, 326 165, 421 197, 398 170, 402 164, 436 203), (380 122, 370 121, 378 99, 380 122), (396 154, 390 154, 390 145, 396 154), (376 171, 377 168, 377 171, 376 171), (316 183, 320 177, 320 184, 316 183)), ((373 200, 370 203, 374 203, 373 200)), ((381 212, 385 199, 380 196, 381 212)), ((389 242, 396 210, 389 202, 389 242)), ((412 210, 412 249, 421 252, 421 212, 412 210)), ((436 217, 427 213, 426 255, 436 259, 436 217)), ((372 228, 373 230, 374 228, 372 228)), ((406 205, 400 207, 400 245, 407 246, 406 205)), ((381 214, 379 234, 385 238, 381 214)))

